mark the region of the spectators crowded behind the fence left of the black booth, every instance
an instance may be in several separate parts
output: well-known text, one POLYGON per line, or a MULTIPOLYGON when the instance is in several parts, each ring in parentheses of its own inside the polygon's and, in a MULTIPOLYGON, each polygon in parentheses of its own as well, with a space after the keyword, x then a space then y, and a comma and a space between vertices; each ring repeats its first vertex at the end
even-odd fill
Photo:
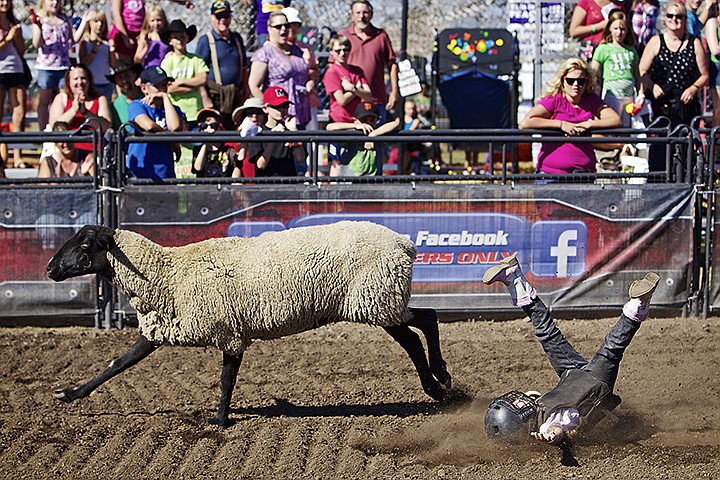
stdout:
MULTIPOLYGON (((194 11, 190 0, 172 1, 194 11)), ((367 0, 351 4, 352 23, 331 42, 324 79, 313 48, 299 38, 303 19, 290 6, 291 0, 245 3, 252 1, 259 46, 249 56, 243 36, 231 29, 228 0, 211 4, 208 32, 186 23, 190 16, 168 19, 161 5, 142 0, 112 0, 109 18, 102 10, 88 10, 76 28, 62 0, 39 0, 36 10, 31 9, 32 45, 38 52, 39 129, 64 131, 85 125, 106 130, 126 125, 122 128, 143 132, 237 130, 243 137, 316 130, 317 87, 323 80, 331 124, 361 124, 360 132, 370 136, 399 128, 400 119, 388 121, 388 111, 399 100, 395 53, 385 31, 372 24, 373 8, 367 0), (356 118, 361 104, 372 115, 356 118)), ((31 73, 11 0, 0 0, 0 30, 0 94, 4 101, 7 93, 13 108, 13 130, 22 131, 31 73)), ((303 142, 182 147, 132 143, 127 170, 153 179, 309 173, 308 146, 303 142), (183 162, 185 150, 192 155, 183 162)), ((376 163, 358 174, 382 174, 385 149, 368 150, 376 163)), ((92 146, 84 143, 46 144, 44 151, 50 154, 41 159, 43 176, 90 174, 87 165, 98 160, 92 146)), ((19 152, 13 160, 21 166, 19 152)))

